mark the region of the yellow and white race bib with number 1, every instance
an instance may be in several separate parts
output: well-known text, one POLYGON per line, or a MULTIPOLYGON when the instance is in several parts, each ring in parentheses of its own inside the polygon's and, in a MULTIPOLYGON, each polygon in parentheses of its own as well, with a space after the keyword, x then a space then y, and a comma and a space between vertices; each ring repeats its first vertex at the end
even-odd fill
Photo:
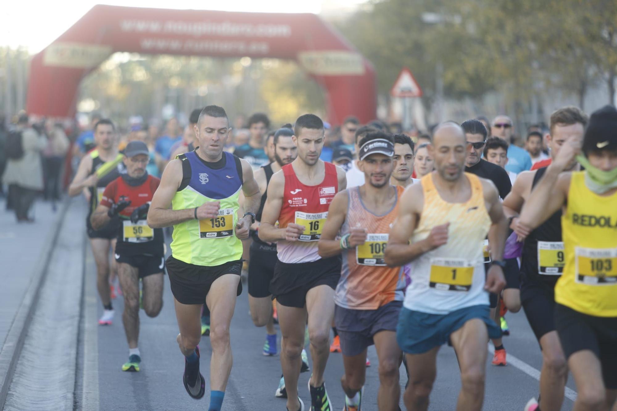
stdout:
POLYGON ((473 265, 463 259, 432 259, 429 287, 441 291, 469 291, 473 265))

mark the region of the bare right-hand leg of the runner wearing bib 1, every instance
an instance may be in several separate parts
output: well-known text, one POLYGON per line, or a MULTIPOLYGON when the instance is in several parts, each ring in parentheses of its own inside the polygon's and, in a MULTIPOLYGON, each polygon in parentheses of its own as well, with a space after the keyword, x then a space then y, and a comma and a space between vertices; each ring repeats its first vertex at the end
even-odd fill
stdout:
POLYGON ((488 340, 486 324, 480 318, 468 320, 450 335, 461 368, 457 410, 482 409, 488 340))

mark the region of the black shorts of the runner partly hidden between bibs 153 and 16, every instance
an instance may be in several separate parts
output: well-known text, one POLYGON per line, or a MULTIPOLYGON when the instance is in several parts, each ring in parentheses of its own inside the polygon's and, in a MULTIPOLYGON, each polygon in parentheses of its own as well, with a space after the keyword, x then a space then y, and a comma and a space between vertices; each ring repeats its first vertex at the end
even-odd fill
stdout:
POLYGON ((270 281, 276 265, 276 245, 253 241, 249 251, 249 294, 270 297, 270 281))

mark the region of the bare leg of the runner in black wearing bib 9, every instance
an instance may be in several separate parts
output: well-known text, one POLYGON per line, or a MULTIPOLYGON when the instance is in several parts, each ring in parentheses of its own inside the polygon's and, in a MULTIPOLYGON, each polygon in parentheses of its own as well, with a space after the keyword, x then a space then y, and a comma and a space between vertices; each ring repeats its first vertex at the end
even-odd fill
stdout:
POLYGON ((540 372, 540 409, 560 410, 563 391, 568 380, 568 367, 557 331, 550 331, 540 338, 542 347, 542 372, 540 372))

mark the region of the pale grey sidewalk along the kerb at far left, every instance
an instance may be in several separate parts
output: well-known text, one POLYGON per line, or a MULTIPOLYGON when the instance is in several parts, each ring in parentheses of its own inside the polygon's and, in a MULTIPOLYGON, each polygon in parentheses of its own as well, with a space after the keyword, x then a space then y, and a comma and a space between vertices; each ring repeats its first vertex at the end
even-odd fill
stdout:
MULTIPOLYGON (((56 212, 51 203, 36 201, 34 223, 17 223, 15 213, 6 210, 0 199, 0 392, 6 391, 5 378, 12 357, 19 352, 23 326, 33 302, 41 272, 54 241, 64 205, 56 212), (31 284, 32 283, 32 284, 31 284)), ((0 401, 1 405, 1 401, 0 401)))

